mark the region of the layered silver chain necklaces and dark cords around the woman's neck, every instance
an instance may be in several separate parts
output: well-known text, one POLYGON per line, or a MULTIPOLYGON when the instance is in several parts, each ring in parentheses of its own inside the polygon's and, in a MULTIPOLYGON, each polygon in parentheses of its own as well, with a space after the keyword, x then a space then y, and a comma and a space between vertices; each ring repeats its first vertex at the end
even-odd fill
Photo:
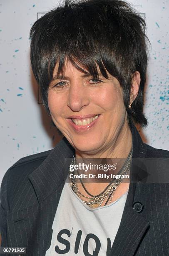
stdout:
MULTIPOLYGON (((72 158, 72 164, 75 165, 76 162, 76 157, 74 156, 72 158)), ((75 194, 78 197, 84 197, 87 200, 82 200, 86 205, 89 205, 92 208, 96 208, 96 207, 100 207, 102 205, 102 202, 105 200, 106 197, 108 197, 107 201, 105 202, 104 205, 107 205, 107 202, 110 199, 110 202, 112 201, 112 197, 114 195, 115 190, 117 189, 117 187, 119 187, 120 183, 122 183, 122 176, 129 174, 130 171, 130 167, 131 167, 131 163, 132 163, 132 150, 129 153, 129 156, 127 158, 127 160, 125 161, 122 169, 119 171, 119 173, 117 175, 120 175, 119 179, 113 179, 109 185, 99 194, 99 195, 91 195, 87 189, 85 188, 84 184, 82 183, 82 180, 80 179, 80 182, 82 184, 82 187, 85 189, 85 191, 87 192, 88 195, 90 195, 91 197, 87 197, 85 195, 83 195, 79 188, 77 187, 77 182, 76 182, 76 178, 71 179, 71 187, 72 190, 75 192, 75 194), (105 192, 106 191, 106 192, 105 192)), ((73 172, 73 174, 75 174, 75 171, 73 172)), ((74 176, 75 177, 75 176, 74 176)))

